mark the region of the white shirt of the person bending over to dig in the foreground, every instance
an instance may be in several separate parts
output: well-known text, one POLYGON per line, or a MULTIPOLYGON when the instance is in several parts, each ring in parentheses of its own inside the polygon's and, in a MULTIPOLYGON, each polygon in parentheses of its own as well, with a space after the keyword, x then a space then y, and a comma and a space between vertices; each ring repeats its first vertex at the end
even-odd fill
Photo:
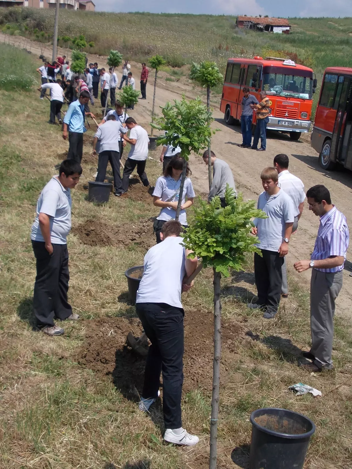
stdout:
POLYGON ((186 269, 181 242, 181 237, 168 236, 145 254, 136 303, 166 303, 182 308, 181 288, 186 269))

